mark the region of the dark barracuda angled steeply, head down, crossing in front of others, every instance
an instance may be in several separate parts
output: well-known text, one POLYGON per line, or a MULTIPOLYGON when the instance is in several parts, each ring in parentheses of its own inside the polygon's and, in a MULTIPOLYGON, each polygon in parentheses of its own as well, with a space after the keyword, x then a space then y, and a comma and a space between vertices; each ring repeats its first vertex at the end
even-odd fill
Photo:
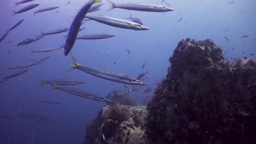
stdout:
POLYGON ((71 51, 75 40, 77 39, 77 34, 79 32, 79 28, 82 24, 82 21, 84 20, 84 16, 88 12, 88 10, 91 8, 91 5, 94 3, 101 2, 101 0, 89 0, 87 3, 84 4, 84 6, 78 11, 77 15, 75 15, 71 26, 69 27, 66 43, 65 43, 65 52, 64 55, 67 56, 68 53, 71 51))

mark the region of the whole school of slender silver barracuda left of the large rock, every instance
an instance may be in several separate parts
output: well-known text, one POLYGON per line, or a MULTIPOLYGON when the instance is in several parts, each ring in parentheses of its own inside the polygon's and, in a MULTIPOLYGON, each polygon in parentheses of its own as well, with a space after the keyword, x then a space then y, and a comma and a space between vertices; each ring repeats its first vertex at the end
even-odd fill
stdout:
MULTIPOLYGON (((15 2, 15 7, 17 5, 25 5, 28 2, 36 2, 34 0, 22 0, 20 2, 15 2)), ((172 8, 167 8, 165 6, 162 5, 154 5, 154 4, 135 4, 135 3, 121 3, 121 4, 115 4, 111 1, 104 1, 107 2, 108 4, 111 5, 111 8, 109 10, 112 9, 126 9, 126 10, 136 10, 136 11, 148 11, 148 12, 167 12, 167 11, 173 11, 172 8)), ((162 0, 162 2, 165 2, 164 0, 162 0)), ((68 2, 67 4, 69 4, 70 2, 68 2)), ((166 3, 166 2, 165 2, 166 3)), ((68 34, 65 35, 63 38, 66 38, 66 41, 63 45, 61 45, 60 47, 57 47, 55 49, 41 49, 41 50, 31 50, 32 53, 35 52, 50 52, 50 51, 56 51, 56 50, 60 50, 62 48, 64 48, 64 55, 71 55, 72 57, 72 67, 71 70, 73 69, 78 69, 80 71, 83 71, 84 73, 93 75, 95 77, 100 77, 101 79, 105 79, 108 81, 113 81, 113 82, 118 82, 118 83, 123 83, 124 87, 127 87, 127 85, 131 85, 132 88, 130 88, 128 90, 128 92, 133 92, 133 91, 138 91, 138 89, 133 88, 133 86, 138 85, 138 86, 143 86, 146 85, 146 83, 142 82, 141 79, 143 77, 146 77, 147 79, 149 79, 149 77, 147 76, 147 73, 142 73, 140 74, 137 78, 132 77, 132 76, 128 76, 125 74, 121 74, 118 73, 117 71, 113 71, 113 70, 106 70, 106 69, 102 69, 102 68, 97 68, 97 67, 91 67, 89 65, 82 65, 79 64, 74 56, 72 55, 71 51, 73 49, 73 45, 75 44, 75 41, 77 39, 79 40, 88 40, 88 39, 108 39, 108 38, 112 38, 115 37, 115 35, 113 34, 107 34, 107 33, 100 33, 100 34, 88 34, 88 35, 83 35, 80 37, 77 37, 78 32, 79 31, 83 31, 83 29, 85 29, 85 27, 81 27, 84 24, 84 21, 88 21, 88 20, 93 20, 96 22, 100 22, 103 23, 105 25, 108 26, 112 26, 112 27, 117 27, 117 28, 124 28, 124 29, 132 29, 132 30, 136 30, 136 31, 142 31, 142 30, 149 30, 148 27, 143 25, 143 22, 137 18, 137 17, 132 17, 130 15, 129 18, 127 19, 119 19, 117 17, 112 17, 112 16, 106 16, 106 15, 100 15, 100 14, 88 14, 88 13, 92 13, 94 11, 98 11, 100 10, 100 7, 103 5, 104 3, 102 3, 101 0, 89 0, 87 1, 82 8, 80 8, 77 12, 77 14, 74 16, 73 21, 71 23, 71 25, 69 26, 69 28, 59 28, 59 29, 55 29, 55 30, 50 30, 50 31, 46 31, 46 32, 40 32, 40 35, 36 35, 34 38, 27 38, 23 41, 21 41, 20 43, 17 44, 17 46, 24 46, 30 43, 33 43, 34 41, 37 41, 39 39, 44 38, 46 35, 52 35, 52 34, 59 34, 59 33, 64 33, 68 31, 68 34), (131 21, 129 21, 129 19, 131 21)), ((166 3, 167 5, 170 5, 168 3, 166 3)), ((13 11, 13 15, 18 15, 21 13, 24 13, 28 10, 32 10, 34 8, 39 7, 40 4, 29 4, 26 5, 25 7, 22 7, 19 10, 14 10, 13 11)), ((50 10, 54 10, 54 9, 58 9, 59 7, 57 6, 53 6, 53 7, 47 7, 47 8, 41 8, 37 11, 34 11, 34 15, 39 15, 39 13, 42 13, 43 11, 50 11, 50 10)), ((0 43, 5 39, 5 37, 7 37, 7 35, 9 34, 10 31, 13 31, 15 28, 19 27, 19 25, 22 25, 22 22, 25 19, 22 19, 20 21, 18 21, 14 26, 12 26, 8 31, 6 31, 4 34, 2 34, 2 36, 0 37, 0 43)), ((129 54, 130 51, 126 50, 129 54)), ((11 77, 15 77, 15 76, 19 76, 21 74, 24 74, 28 71, 27 68, 32 67, 33 65, 37 65, 40 63, 43 63, 44 61, 46 61, 47 59, 49 59, 50 56, 48 57, 44 57, 41 59, 32 59, 32 58, 27 58, 30 59, 32 61, 31 64, 28 65, 17 65, 17 66, 13 66, 13 67, 3 67, 1 69, 18 69, 16 70, 14 73, 11 73, 7 76, 4 76, 0 79, 0 83, 6 82, 8 79, 10 79, 11 77)), ((147 62, 145 62, 142 66, 142 69, 145 67, 147 62)), ((63 92, 72 94, 72 95, 77 95, 78 97, 82 97, 82 98, 86 98, 86 99, 91 99, 91 100, 95 100, 95 101, 102 101, 102 102, 108 102, 111 103, 112 101, 101 95, 92 93, 92 92, 88 92, 84 89, 80 89, 80 88, 76 88, 73 87, 72 85, 80 85, 82 83, 85 83, 85 81, 80 81, 80 80, 72 80, 72 79, 51 79, 51 80, 40 80, 40 85, 43 84, 50 84, 53 86, 53 89, 59 89, 63 92)), ((144 93, 148 93, 150 91, 153 91, 153 88, 148 88, 144 91, 144 93)), ((50 101, 50 100, 39 100, 37 99, 38 103, 43 103, 43 104, 61 104, 60 101, 50 101)), ((36 121, 42 121, 42 122, 56 122, 54 119, 51 118, 46 118, 46 117, 42 117, 42 116, 38 116, 38 115, 30 115, 30 114, 25 114, 25 113, 21 113, 19 115, 20 117, 28 117, 31 119, 34 119, 36 121)), ((0 117, 2 118, 14 118, 11 115, 8 115, 7 113, 0 113, 0 117)))

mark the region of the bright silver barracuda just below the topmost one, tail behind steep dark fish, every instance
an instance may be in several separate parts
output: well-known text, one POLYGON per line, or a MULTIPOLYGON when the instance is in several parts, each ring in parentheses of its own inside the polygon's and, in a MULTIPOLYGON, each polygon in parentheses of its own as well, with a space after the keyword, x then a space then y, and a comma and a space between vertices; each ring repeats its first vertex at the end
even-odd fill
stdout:
POLYGON ((113 27, 119 27, 119 28, 125 28, 125 29, 133 29, 133 30, 148 30, 148 27, 142 26, 139 23, 118 19, 115 17, 110 16, 104 16, 104 15, 92 15, 87 14, 85 18, 104 23, 105 25, 113 26, 113 27))

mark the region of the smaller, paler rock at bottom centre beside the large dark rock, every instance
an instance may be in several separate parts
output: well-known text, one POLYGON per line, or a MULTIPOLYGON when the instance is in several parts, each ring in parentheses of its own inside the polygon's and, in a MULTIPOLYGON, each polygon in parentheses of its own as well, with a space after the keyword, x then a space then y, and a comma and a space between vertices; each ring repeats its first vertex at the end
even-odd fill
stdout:
POLYGON ((87 125, 85 143, 144 144, 146 117, 146 106, 104 106, 87 125))

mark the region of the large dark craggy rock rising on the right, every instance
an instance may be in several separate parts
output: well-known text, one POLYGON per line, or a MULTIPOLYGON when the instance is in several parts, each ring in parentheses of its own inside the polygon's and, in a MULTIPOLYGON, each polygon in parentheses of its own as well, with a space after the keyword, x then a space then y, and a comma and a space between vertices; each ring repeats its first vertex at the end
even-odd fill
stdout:
POLYGON ((147 143, 255 142, 256 67, 210 39, 181 40, 147 105, 147 143))

